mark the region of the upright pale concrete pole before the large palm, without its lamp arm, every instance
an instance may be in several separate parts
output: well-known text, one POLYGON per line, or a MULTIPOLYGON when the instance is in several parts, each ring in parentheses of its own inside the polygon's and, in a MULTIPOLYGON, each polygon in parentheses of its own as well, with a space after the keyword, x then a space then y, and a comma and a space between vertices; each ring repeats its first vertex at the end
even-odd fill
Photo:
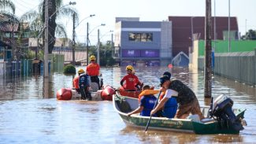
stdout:
POLYGON ((44 20, 44 23, 45 23, 45 38, 44 38, 44 62, 43 62, 43 76, 44 77, 48 77, 49 76, 49 70, 48 70, 48 22, 49 22, 49 13, 48 13, 48 0, 46 0, 46 8, 45 8, 45 20, 44 20))

